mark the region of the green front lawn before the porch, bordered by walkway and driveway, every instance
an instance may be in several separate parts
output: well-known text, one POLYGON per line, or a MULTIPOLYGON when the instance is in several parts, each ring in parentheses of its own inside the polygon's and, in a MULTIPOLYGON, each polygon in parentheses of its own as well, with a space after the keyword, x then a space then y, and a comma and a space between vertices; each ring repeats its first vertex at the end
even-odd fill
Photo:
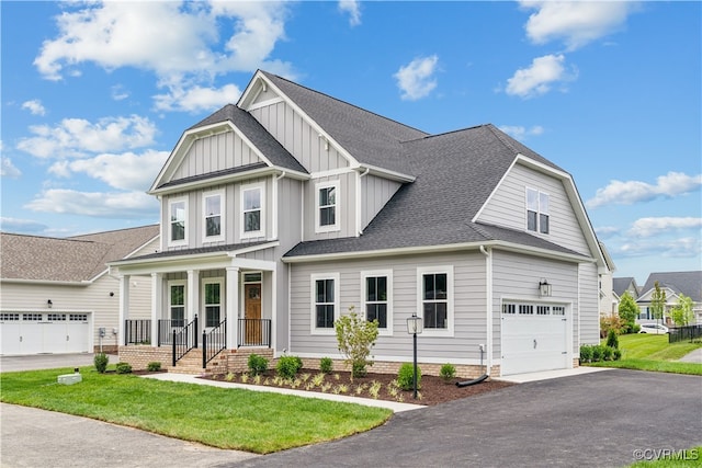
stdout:
POLYGON ((72 368, 0 374, 0 401, 136 427, 218 448, 268 454, 346 437, 392 411, 312 398, 98 374, 57 384, 72 368))

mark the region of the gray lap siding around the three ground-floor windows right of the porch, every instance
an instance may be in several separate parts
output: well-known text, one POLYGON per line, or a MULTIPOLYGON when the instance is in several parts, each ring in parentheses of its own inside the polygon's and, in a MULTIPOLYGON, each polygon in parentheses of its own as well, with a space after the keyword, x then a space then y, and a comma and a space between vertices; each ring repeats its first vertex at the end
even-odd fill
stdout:
MULTIPOLYGON (((312 275, 338 274, 340 297, 338 313, 349 307, 361 310, 362 272, 392 271, 390 335, 380 335, 373 355, 378 361, 406 362, 412 356, 412 336, 407 333, 407 318, 418 310, 418 269, 451 267, 453 271, 453 333, 420 335, 423 362, 479 364, 478 344, 486 342, 485 256, 477 251, 451 254, 418 254, 385 259, 339 261, 335 263, 293 264, 291 270, 291 352, 301 356, 339 356, 333 333, 310 332, 314 297, 312 275)), ((389 321, 389 320, 388 320, 389 321)))

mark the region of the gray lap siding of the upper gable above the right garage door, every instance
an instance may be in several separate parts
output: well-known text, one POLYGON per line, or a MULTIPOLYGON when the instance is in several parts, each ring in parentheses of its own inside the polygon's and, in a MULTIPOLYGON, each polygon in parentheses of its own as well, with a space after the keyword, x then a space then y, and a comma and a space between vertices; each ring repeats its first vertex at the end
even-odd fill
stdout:
POLYGON ((550 232, 547 235, 533 232, 533 235, 590 255, 591 252, 582 235, 582 228, 575 216, 563 182, 521 164, 514 164, 502 180, 477 220, 525 230, 528 187, 548 195, 550 232))

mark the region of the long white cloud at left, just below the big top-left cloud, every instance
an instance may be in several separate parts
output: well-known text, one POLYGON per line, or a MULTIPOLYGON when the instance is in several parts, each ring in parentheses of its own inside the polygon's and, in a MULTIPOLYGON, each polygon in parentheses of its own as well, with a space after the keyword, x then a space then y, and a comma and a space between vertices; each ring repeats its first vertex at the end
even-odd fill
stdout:
POLYGON ((38 158, 83 157, 84 152, 115 151, 154 144, 156 126, 145 117, 105 117, 97 123, 65 118, 50 127, 30 127, 34 137, 24 138, 18 149, 38 158))

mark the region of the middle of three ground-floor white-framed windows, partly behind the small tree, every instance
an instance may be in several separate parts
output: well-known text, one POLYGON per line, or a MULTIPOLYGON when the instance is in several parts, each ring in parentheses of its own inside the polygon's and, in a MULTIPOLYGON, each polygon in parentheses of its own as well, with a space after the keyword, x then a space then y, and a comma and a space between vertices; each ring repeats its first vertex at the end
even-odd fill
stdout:
POLYGON ((367 321, 377 320, 378 334, 393 334, 393 271, 361 272, 362 308, 367 321))

